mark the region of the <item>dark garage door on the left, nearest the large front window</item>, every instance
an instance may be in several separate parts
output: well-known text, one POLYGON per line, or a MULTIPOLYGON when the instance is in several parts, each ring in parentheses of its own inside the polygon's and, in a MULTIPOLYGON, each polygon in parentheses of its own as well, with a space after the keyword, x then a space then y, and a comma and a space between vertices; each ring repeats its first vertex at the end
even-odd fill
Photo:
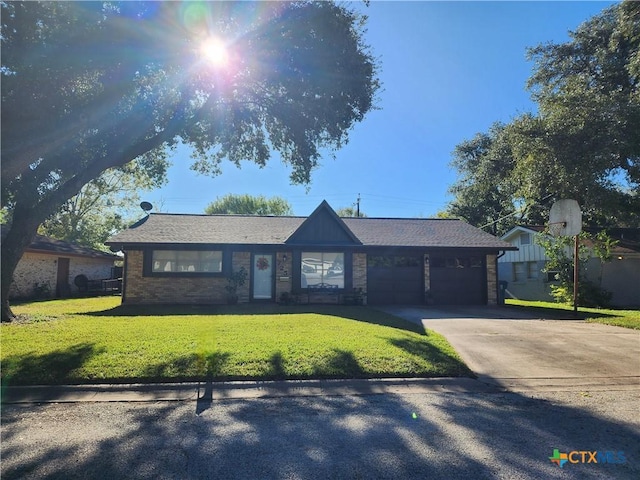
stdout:
POLYGON ((367 303, 419 304, 423 302, 422 257, 369 255, 367 303))

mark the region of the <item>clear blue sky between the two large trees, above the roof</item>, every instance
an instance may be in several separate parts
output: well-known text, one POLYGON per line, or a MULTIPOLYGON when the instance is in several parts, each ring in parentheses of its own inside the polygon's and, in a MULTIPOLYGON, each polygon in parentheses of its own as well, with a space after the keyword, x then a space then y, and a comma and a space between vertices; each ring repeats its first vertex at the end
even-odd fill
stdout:
POLYGON ((352 206, 358 194, 370 217, 431 217, 451 200, 451 152, 496 121, 534 111, 525 90, 526 48, 564 42, 569 30, 612 2, 361 2, 367 42, 380 59, 380 110, 351 132, 335 160, 327 157, 308 190, 289 183, 277 155, 263 169, 223 164, 215 178, 188 168, 189 150, 172 157, 169 182, 145 192, 155 211, 203 213, 228 193, 279 195, 296 215, 326 199, 352 206))

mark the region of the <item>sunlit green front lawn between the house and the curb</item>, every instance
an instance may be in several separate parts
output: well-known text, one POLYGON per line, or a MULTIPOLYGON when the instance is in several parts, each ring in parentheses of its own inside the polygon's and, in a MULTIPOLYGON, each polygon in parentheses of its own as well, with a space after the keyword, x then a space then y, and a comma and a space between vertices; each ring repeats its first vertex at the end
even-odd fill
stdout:
POLYGON ((367 307, 16 305, 5 385, 466 376, 440 335, 367 307))

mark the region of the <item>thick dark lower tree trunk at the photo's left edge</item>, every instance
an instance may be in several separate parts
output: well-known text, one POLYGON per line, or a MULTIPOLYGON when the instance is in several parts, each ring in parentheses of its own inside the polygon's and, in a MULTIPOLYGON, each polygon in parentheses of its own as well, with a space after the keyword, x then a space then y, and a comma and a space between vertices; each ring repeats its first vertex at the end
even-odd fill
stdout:
POLYGON ((11 322, 16 318, 9 304, 9 289, 13 282, 13 273, 18 266, 18 262, 22 258, 24 250, 33 241, 39 224, 38 215, 16 206, 9 232, 2 240, 2 268, 0 271, 2 304, 0 305, 0 311, 3 322, 11 322))

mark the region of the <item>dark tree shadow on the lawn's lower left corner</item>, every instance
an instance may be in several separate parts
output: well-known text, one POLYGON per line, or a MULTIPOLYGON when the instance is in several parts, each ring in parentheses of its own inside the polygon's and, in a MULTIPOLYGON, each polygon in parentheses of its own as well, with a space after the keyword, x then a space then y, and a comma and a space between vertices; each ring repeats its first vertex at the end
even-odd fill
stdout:
POLYGON ((104 350, 80 343, 44 355, 15 355, 2 361, 2 385, 56 385, 76 383, 71 373, 104 350))

